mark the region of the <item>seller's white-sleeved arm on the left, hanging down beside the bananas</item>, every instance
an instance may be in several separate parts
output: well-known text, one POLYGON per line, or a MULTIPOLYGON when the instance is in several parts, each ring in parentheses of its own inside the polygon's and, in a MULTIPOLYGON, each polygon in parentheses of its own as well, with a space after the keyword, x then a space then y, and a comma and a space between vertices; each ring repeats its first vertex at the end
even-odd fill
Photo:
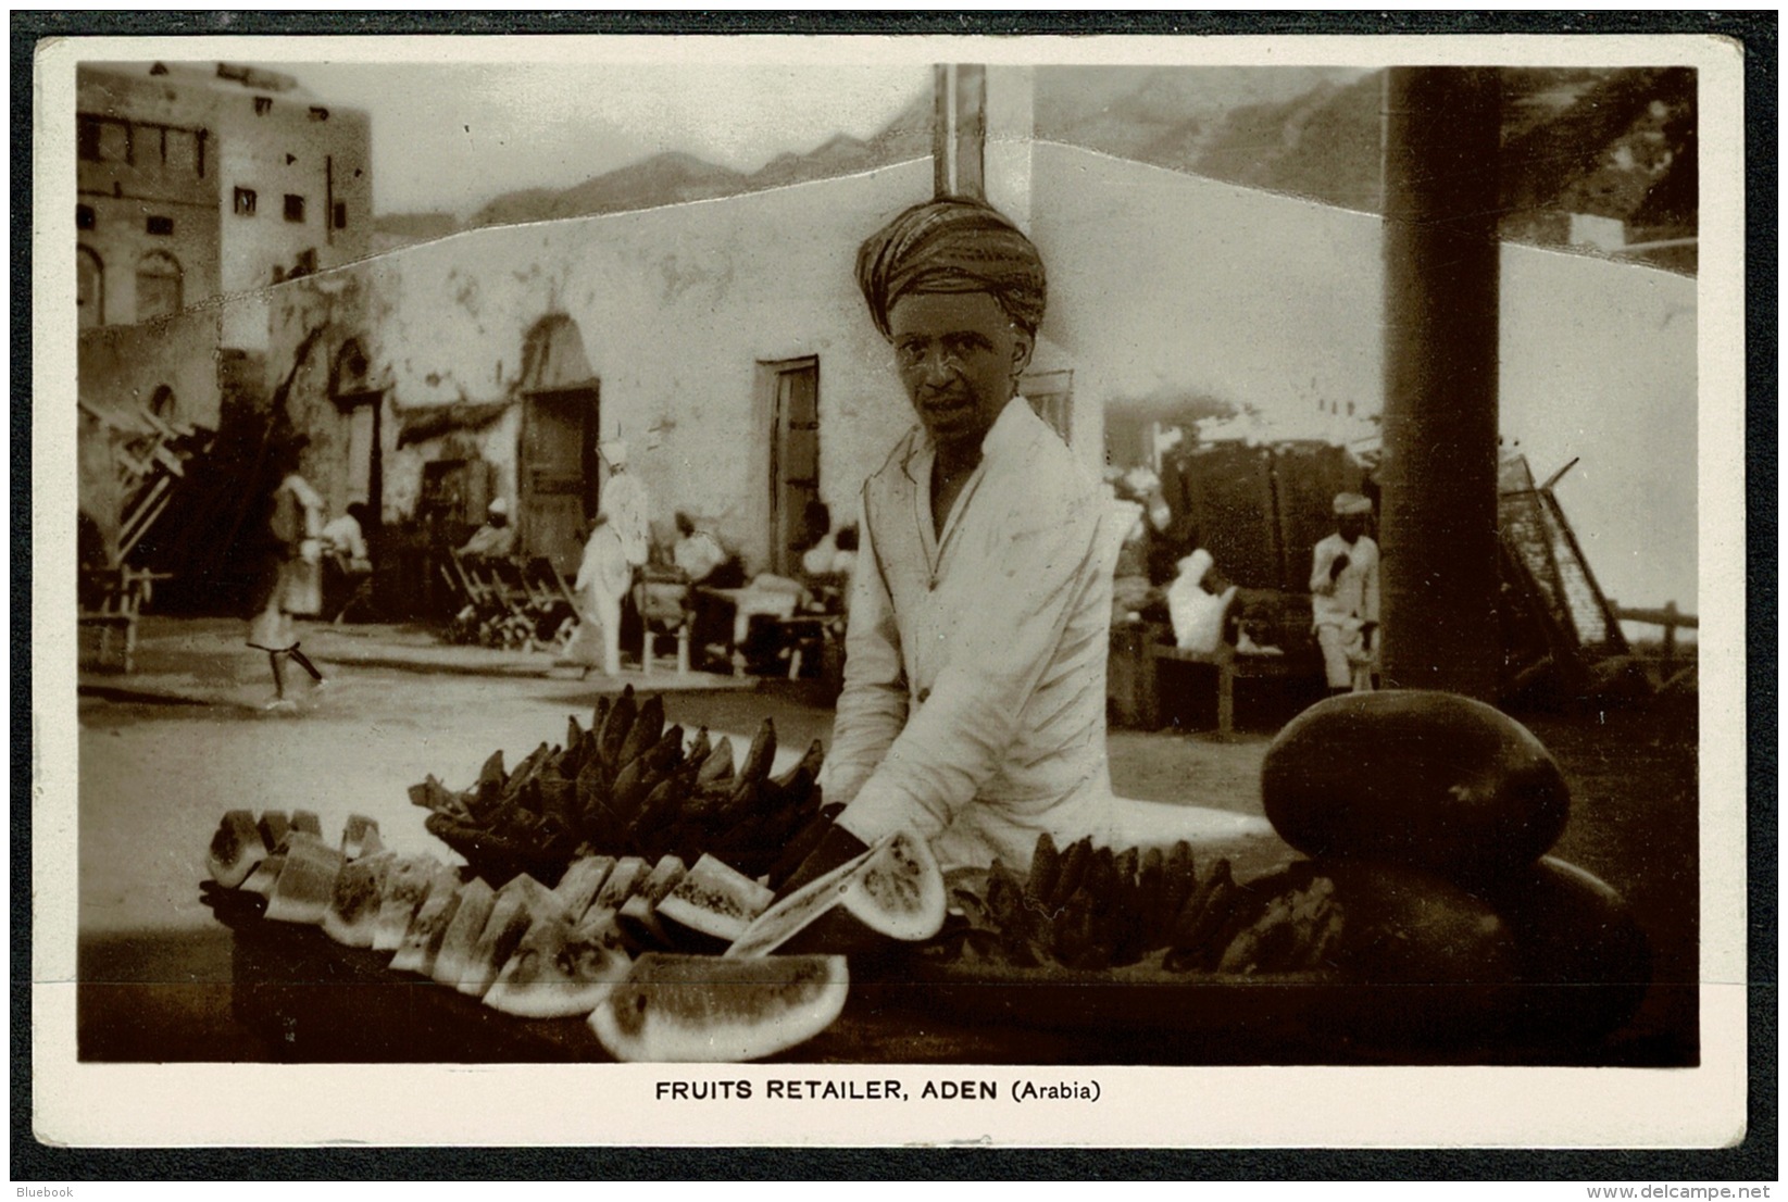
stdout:
POLYGON ((844 690, 839 694, 821 789, 828 803, 851 801, 907 724, 907 669, 894 599, 876 560, 869 522, 862 524, 862 571, 851 583, 844 633, 844 690))

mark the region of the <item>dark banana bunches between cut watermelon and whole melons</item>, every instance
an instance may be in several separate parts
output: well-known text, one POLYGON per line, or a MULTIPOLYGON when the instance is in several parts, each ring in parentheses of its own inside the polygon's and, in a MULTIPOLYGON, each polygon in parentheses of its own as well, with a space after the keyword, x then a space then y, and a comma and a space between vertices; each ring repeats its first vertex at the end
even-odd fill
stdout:
POLYGON ((983 893, 958 889, 982 955, 1016 966, 1100 971, 1159 955, 1169 971, 1305 971, 1327 962, 1341 934, 1334 884, 1262 893, 1236 882, 1227 859, 1198 871, 1189 842, 1160 848, 1058 850, 1037 839, 1023 880, 994 860, 983 893))

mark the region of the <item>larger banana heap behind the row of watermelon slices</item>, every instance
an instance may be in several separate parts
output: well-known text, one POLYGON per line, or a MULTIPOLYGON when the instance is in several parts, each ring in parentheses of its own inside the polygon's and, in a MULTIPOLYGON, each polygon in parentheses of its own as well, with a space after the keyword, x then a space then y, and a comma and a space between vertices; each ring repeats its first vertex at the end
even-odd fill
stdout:
POLYGON ((409 798, 431 810, 429 832, 476 864, 493 859, 540 876, 583 853, 654 862, 710 853, 758 876, 819 821, 822 755, 814 741, 772 778, 776 726, 763 719, 735 766, 731 739, 710 744, 703 728, 685 746, 663 699, 640 701, 629 685, 597 703, 588 730, 572 717, 563 746, 540 744, 513 773, 497 751, 470 789, 429 776, 409 798))

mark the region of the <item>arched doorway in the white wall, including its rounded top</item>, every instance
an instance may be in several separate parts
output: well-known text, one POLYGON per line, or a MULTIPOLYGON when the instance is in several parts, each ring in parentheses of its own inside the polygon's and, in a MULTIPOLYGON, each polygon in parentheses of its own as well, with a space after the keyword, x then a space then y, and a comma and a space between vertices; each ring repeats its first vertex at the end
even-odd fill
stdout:
POLYGON ((601 490, 599 390, 578 322, 554 313, 527 333, 520 388, 517 508, 522 551, 574 574, 601 490))

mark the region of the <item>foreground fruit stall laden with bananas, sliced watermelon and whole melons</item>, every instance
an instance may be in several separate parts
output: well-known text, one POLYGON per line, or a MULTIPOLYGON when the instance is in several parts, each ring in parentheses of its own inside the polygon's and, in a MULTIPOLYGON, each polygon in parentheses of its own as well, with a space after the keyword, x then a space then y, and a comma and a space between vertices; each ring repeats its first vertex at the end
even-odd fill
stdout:
POLYGON ((939 869, 898 832, 790 887, 824 748, 629 689, 372 821, 231 810, 200 889, 274 1059, 1577 1064, 1638 1011, 1645 932, 1547 853, 1547 749, 1450 694, 1334 698, 1262 764, 1275 839, 939 869), (778 762, 781 771, 772 771, 778 762))

